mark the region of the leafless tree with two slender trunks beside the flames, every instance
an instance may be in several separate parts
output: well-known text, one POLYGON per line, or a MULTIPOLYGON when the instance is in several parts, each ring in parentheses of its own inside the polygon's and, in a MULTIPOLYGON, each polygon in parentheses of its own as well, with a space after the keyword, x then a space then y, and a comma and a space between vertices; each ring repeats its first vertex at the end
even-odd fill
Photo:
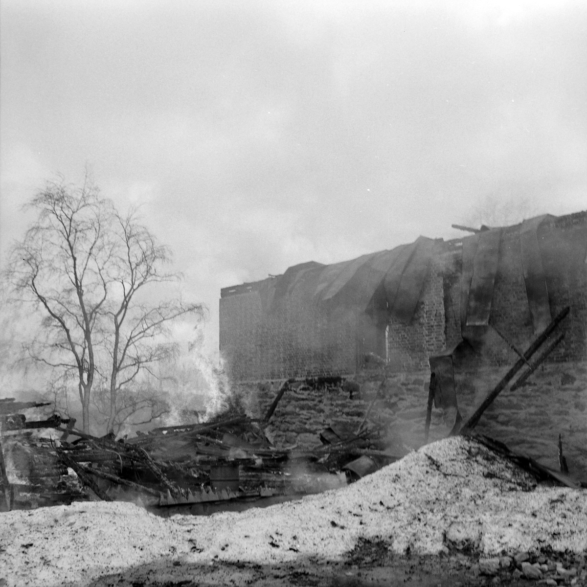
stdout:
POLYGON ((111 431, 120 391, 173 353, 164 337, 168 323, 201 317, 204 308, 138 299, 147 285, 179 278, 162 270, 170 253, 135 215, 120 215, 87 177, 81 187, 48 183, 28 207, 38 218, 12 249, 6 274, 16 301, 32 302, 43 315, 26 352, 75 373, 85 432, 93 386, 109 380, 111 431))

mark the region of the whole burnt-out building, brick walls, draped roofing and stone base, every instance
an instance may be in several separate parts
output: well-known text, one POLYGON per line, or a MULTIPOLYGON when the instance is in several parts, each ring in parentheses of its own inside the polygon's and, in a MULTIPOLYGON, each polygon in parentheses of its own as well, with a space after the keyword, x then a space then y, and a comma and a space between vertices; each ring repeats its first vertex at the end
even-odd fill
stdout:
MULTIPOLYGON (((553 467, 562 434, 587 476, 587 212, 470 232, 222 289, 220 350, 252 415, 293 378, 272 416, 276 440, 316 444, 325 426, 370 423, 396 452, 420 446, 430 357, 451 356, 467 417, 509 366, 528 365, 520 355, 568 307, 545 362, 478 430, 553 467)), ((448 434, 451 417, 433 410, 430 440, 448 434)))

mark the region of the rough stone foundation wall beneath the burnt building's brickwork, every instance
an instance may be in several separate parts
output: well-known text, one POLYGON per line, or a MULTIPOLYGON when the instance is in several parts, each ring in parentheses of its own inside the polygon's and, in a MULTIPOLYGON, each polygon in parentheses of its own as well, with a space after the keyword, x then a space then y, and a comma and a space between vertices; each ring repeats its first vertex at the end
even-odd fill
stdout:
MULTIPOLYGON (((507 367, 455 370, 458 406, 464 419, 507 372, 507 367)), ((369 411, 373 421, 385 427, 382 443, 401 456, 424 443, 429 370, 362 372, 353 377, 359 392, 352 397, 345 386, 288 390, 269 423, 278 444, 316 446, 326 426, 356 431, 369 411)), ((252 417, 263 417, 281 382, 241 384, 238 392, 248 396, 252 417)), ((444 438, 454 424, 451 414, 433 408, 430 441, 444 438)), ((512 450, 537 458, 558 470, 558 434, 571 474, 587 481, 587 366, 583 362, 550 363, 528 384, 505 389, 485 411, 475 429, 507 444, 512 450)))

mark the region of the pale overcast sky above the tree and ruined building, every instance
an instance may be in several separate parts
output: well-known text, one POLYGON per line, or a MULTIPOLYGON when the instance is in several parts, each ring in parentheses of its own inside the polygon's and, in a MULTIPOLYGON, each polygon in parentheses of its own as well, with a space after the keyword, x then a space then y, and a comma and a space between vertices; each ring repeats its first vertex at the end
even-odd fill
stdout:
POLYGON ((587 208, 584 1, 0 6, 0 254, 87 165, 173 249, 208 349, 221 287, 587 208))

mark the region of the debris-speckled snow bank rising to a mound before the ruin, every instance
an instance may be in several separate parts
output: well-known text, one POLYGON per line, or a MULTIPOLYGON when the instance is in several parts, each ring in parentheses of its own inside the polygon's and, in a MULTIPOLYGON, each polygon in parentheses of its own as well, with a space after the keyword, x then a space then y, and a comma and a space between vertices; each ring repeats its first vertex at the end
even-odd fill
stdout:
POLYGON ((185 563, 339 560, 359 538, 394 552, 468 541, 486 556, 582 552, 587 491, 533 489, 532 478, 474 440, 429 444, 348 487, 265 509, 164 519, 123 502, 0 514, 8 585, 86 585, 163 558, 185 563))

